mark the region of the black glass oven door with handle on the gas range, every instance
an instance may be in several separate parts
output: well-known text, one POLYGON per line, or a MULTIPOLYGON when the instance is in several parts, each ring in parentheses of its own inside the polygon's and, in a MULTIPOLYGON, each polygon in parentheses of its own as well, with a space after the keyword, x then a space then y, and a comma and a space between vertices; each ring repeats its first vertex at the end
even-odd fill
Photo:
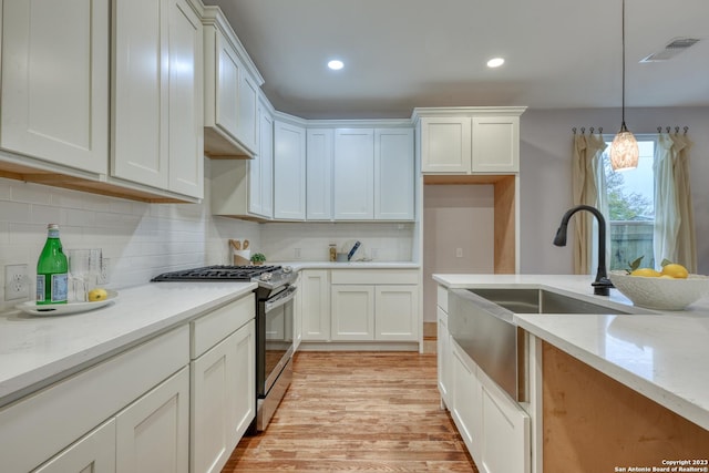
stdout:
POLYGON ((256 327, 257 394, 265 398, 292 357, 294 298, 297 288, 289 286, 276 296, 259 302, 256 327))

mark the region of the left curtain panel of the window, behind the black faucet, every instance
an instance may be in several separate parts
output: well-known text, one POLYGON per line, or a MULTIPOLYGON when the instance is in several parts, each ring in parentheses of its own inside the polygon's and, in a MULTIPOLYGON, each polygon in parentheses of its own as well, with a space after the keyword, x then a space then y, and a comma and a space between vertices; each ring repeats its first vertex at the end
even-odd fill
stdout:
MULTIPOLYGON (((603 152, 606 143, 599 134, 574 135, 574 156, 572 167, 572 191, 574 206, 585 204, 598 208, 608 219, 606 197, 606 175, 603 168, 603 152), (605 207, 605 208, 604 208, 605 207)), ((574 240, 574 273, 588 275, 596 271, 594 260, 593 232, 595 219, 588 213, 576 214, 574 240)), ((610 249, 610 233, 606 226, 606 248, 610 249)), ((606 255, 606 260, 608 256, 606 255)))

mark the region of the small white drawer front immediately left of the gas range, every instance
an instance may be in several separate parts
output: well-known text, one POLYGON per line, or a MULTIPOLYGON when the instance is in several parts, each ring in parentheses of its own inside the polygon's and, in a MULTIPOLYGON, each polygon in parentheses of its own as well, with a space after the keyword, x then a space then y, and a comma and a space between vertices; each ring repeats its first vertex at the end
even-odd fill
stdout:
POLYGON ((199 357, 219 341, 235 332, 256 315, 253 292, 192 322, 192 359, 199 357))

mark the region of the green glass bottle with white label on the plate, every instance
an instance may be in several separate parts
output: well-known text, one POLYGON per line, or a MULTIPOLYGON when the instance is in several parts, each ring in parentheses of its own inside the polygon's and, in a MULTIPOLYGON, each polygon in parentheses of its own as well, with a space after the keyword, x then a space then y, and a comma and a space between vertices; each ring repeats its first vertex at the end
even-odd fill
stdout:
POLYGON ((59 239, 59 225, 47 226, 47 243, 37 261, 37 304, 66 304, 69 264, 59 239))

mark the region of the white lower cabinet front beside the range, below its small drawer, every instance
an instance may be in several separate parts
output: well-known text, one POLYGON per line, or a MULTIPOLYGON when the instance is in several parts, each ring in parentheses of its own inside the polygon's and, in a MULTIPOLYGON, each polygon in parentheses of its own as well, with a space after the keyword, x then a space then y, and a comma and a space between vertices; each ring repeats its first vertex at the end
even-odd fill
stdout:
POLYGON ((254 321, 191 364, 191 471, 219 472, 254 419, 254 321))

